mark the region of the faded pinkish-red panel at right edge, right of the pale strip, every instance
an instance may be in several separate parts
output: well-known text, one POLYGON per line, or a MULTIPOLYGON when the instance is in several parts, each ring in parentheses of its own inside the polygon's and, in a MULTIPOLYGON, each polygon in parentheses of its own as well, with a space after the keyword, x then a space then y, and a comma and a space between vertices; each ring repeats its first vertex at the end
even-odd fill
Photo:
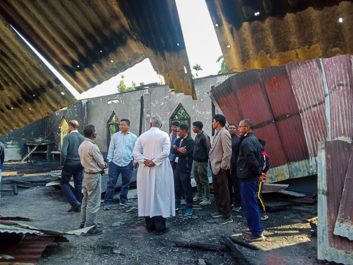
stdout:
POLYGON ((351 58, 339 55, 322 60, 330 102, 331 139, 353 138, 353 82, 351 58))

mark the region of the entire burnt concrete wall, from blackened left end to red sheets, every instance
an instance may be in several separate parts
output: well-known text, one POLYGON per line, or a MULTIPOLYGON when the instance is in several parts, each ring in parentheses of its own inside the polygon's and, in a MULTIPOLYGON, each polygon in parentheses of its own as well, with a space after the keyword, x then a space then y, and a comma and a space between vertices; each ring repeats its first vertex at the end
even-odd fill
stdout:
MULTIPOLYGON (((230 75, 229 75, 230 76, 230 75)), ((5 145, 6 160, 19 160, 26 154, 25 142, 37 142, 53 131, 48 141, 55 142, 55 151, 59 150, 60 129, 62 117, 67 121, 78 120, 79 132, 82 134, 84 125, 93 124, 98 133, 95 142, 104 157, 107 155, 107 122, 113 111, 119 120, 127 118, 131 121, 130 131, 139 135, 140 125, 140 99, 143 96, 142 133, 150 128, 150 117, 159 114, 163 119, 162 130, 170 133, 169 119, 179 103, 183 105, 190 115, 191 123, 199 120, 204 124, 204 131, 212 139, 212 109, 208 92, 211 86, 217 86, 228 78, 228 75, 218 75, 194 80, 198 100, 192 100, 191 96, 183 93, 172 94, 168 86, 157 86, 134 90, 114 95, 102 96, 92 99, 80 100, 66 108, 56 111, 44 119, 24 126, 12 133, 0 137, 5 145), (114 100, 108 104, 108 102, 114 100)), ((221 113, 216 107, 215 113, 221 113)), ((190 135, 195 134, 190 130, 190 135)))

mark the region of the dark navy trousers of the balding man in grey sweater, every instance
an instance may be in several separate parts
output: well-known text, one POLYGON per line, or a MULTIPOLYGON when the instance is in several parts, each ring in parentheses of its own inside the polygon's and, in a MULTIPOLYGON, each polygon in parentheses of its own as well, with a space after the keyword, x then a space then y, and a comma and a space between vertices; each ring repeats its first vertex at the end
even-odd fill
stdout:
POLYGON ((82 171, 83 166, 81 163, 66 165, 61 170, 60 186, 67 201, 71 205, 77 202, 81 203, 82 201, 82 171), (74 192, 72 192, 69 184, 71 177, 73 177, 73 183, 75 185, 74 192))

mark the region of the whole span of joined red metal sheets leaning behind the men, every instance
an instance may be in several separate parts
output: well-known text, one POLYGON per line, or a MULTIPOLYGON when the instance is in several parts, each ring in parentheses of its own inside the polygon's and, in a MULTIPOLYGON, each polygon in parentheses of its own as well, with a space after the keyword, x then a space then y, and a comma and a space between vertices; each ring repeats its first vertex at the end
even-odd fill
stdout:
POLYGON ((268 181, 317 173, 317 143, 352 140, 353 56, 237 73, 211 89, 229 123, 250 118, 267 141, 268 181), (285 172, 285 173, 283 173, 285 172))

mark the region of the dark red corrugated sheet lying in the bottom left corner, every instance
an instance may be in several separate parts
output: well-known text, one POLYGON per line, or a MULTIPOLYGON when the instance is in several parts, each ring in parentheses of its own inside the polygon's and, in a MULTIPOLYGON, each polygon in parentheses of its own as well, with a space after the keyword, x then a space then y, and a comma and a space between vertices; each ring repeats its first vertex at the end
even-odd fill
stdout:
POLYGON ((30 235, 15 246, 1 249, 2 254, 10 255, 14 259, 0 259, 5 264, 37 264, 43 250, 54 241, 55 236, 30 235))

